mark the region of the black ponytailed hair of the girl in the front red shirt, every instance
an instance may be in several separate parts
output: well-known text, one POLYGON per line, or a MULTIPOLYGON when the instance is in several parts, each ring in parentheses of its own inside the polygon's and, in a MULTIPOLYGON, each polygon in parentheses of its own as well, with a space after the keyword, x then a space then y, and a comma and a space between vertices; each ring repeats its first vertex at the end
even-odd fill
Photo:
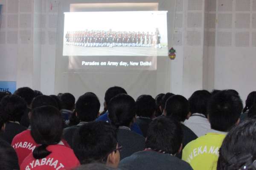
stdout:
POLYGON ((42 159, 51 152, 46 148, 51 144, 58 144, 62 136, 62 117, 60 111, 53 106, 41 106, 32 111, 31 135, 36 143, 33 156, 42 159))

